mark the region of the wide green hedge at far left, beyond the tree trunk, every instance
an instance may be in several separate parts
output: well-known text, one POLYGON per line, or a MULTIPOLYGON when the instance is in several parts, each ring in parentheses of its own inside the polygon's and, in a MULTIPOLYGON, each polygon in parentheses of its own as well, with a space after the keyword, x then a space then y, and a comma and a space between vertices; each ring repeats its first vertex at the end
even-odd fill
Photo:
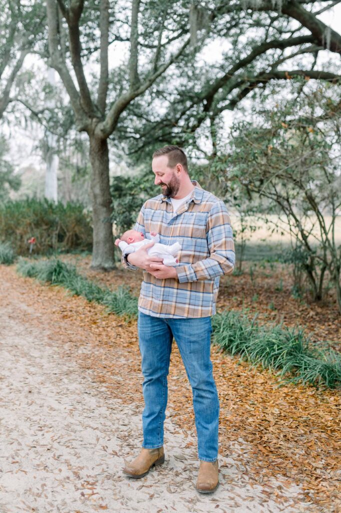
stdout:
POLYGON ((31 237, 36 239, 34 254, 92 247, 90 219, 81 204, 27 199, 0 206, 0 242, 9 242, 18 255, 26 255, 31 237))

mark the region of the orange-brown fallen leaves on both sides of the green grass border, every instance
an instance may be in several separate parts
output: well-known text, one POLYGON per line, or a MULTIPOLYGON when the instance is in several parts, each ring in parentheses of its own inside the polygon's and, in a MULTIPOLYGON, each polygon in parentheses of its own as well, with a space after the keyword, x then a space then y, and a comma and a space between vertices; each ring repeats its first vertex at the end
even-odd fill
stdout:
MULTIPOLYGON (((3 273, 10 275, 23 301, 35 307, 36 324, 48 324, 54 337, 72 343, 72 354, 66 354, 67 357, 77 359, 79 365, 89 369, 93 379, 105 384, 113 397, 125 403, 143 402, 135 321, 125 323, 113 314, 106 315, 102 306, 70 297, 62 288, 42 286, 18 277, 13 267, 0 266, 0 278, 3 273), (93 347, 91 358, 82 353, 85 344, 93 347)), ((108 274, 87 270, 86 274, 97 283, 113 288, 120 283, 134 283, 134 290, 139 288, 141 279, 140 273, 123 269, 108 274)), ((241 293, 245 294, 244 306, 253 306, 247 277, 224 277, 222 285, 220 307, 225 301, 227 307, 237 309, 241 293)), ((257 310, 264 308, 263 316, 268 313, 264 304, 268 301, 269 287, 267 279, 258 280, 257 310)), ((271 297, 275 304, 278 301, 278 311, 270 319, 275 321, 283 316, 287 325, 307 322, 311 306, 297 307, 297 302, 288 298, 285 291, 278 297, 272 292, 271 297)), ((318 338, 324 332, 321 330, 330 333, 328 323, 333 322, 333 316, 337 319, 333 309, 327 314, 322 313, 323 307, 319 308, 321 311, 314 308, 315 315, 309 318, 310 332, 314 337, 318 333, 318 338), (315 325, 315 320, 323 315, 327 328, 315 325)), ((338 326, 330 338, 340 341, 339 330, 338 326)), ((251 450, 240 454, 240 464, 246 466, 245 471, 255 484, 266 484, 271 477, 282 480, 284 487, 301 484, 307 499, 312 499, 320 510, 337 511, 341 507, 340 391, 294 385, 279 388, 278 379, 271 372, 260 371, 247 363, 239 364, 237 358, 217 348, 212 349, 212 362, 220 400, 220 452, 228 457, 235 441, 247 442, 251 450)), ((174 412, 172 422, 185 431, 195 432, 192 393, 175 344, 168 383, 168 404, 174 412)), ((280 490, 276 494, 280 495, 280 490)))

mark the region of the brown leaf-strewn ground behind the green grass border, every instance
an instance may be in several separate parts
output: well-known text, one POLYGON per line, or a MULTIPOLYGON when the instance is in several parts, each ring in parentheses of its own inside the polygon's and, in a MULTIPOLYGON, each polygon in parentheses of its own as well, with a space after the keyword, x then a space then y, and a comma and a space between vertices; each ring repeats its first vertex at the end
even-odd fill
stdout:
MULTIPOLYGON (((127 285, 134 295, 139 294, 143 280, 142 271, 128 271, 121 264, 110 273, 90 269, 91 257, 65 255, 65 262, 77 263, 77 269, 89 280, 111 289, 127 285)), ((255 313, 259 322, 279 323, 285 326, 302 326, 312 341, 332 341, 333 348, 341 350, 341 314, 332 292, 321 303, 293 298, 292 269, 289 265, 259 264, 253 268, 253 279, 248 271, 252 263, 245 263, 245 272, 240 276, 225 275, 220 279, 217 309, 241 311, 247 309, 250 317, 255 313), (273 267, 273 268, 271 268, 273 267)))

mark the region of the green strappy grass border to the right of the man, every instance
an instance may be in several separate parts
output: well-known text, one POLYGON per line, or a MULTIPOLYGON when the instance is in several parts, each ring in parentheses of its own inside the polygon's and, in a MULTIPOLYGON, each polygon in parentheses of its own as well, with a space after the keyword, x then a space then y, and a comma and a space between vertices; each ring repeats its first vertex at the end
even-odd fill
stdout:
POLYGON ((316 347, 303 329, 260 326, 246 314, 217 313, 212 318, 213 343, 253 365, 277 370, 283 383, 310 383, 330 388, 341 384, 341 357, 325 345, 316 347))

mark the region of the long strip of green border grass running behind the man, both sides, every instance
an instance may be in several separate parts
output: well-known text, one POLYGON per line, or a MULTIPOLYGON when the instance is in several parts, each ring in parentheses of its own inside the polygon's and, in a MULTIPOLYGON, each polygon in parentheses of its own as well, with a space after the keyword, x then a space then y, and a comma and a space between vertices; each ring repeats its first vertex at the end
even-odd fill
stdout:
MULTIPOLYGON (((17 271, 51 285, 61 285, 72 294, 103 304, 109 312, 128 319, 137 317, 137 298, 127 287, 115 291, 101 288, 60 260, 20 259, 17 271)), ((341 384, 341 357, 328 347, 312 345, 302 329, 260 326, 245 313, 223 311, 212 317, 212 342, 253 365, 279 373, 283 383, 309 383, 335 388, 341 384)))

